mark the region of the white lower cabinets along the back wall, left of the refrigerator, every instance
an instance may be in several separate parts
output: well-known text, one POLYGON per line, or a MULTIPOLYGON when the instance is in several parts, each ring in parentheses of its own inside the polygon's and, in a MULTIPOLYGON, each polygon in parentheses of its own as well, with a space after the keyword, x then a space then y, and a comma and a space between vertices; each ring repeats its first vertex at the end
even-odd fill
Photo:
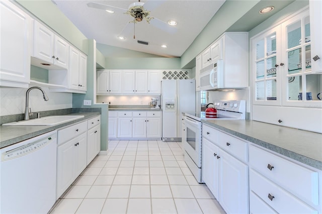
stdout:
POLYGON ((161 116, 160 111, 110 111, 109 138, 161 138, 161 116))

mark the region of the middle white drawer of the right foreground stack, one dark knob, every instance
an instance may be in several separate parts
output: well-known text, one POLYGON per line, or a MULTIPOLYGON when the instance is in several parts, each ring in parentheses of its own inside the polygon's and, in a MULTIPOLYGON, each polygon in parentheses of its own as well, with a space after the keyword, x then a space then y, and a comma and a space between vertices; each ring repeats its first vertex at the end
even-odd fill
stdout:
POLYGON ((279 213, 317 213, 317 210, 314 210, 253 169, 250 170, 250 190, 254 191, 279 213))

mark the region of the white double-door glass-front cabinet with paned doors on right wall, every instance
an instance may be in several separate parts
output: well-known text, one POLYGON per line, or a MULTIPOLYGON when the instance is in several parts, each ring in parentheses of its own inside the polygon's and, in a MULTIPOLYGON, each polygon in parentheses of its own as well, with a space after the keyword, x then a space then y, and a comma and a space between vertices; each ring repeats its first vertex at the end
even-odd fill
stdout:
POLYGON ((322 106, 322 75, 311 72, 308 9, 252 38, 253 103, 322 106))

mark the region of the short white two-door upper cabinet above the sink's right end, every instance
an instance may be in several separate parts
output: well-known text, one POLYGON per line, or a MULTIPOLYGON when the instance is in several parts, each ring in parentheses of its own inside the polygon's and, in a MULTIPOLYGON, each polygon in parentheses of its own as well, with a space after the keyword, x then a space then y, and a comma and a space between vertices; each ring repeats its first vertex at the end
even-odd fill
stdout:
MULTIPOLYGON (((49 69, 68 69, 68 52, 69 44, 65 40, 38 21, 34 21, 33 57, 54 65, 49 69)), ((41 61, 37 61, 37 59, 34 59, 32 63, 35 66, 43 67, 41 61)))

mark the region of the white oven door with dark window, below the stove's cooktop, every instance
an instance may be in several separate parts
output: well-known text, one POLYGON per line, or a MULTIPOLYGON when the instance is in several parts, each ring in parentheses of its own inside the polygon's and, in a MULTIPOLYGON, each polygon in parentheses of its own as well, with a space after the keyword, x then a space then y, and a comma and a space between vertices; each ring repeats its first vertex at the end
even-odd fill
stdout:
POLYGON ((186 118, 184 148, 193 162, 201 167, 201 122, 186 118))

